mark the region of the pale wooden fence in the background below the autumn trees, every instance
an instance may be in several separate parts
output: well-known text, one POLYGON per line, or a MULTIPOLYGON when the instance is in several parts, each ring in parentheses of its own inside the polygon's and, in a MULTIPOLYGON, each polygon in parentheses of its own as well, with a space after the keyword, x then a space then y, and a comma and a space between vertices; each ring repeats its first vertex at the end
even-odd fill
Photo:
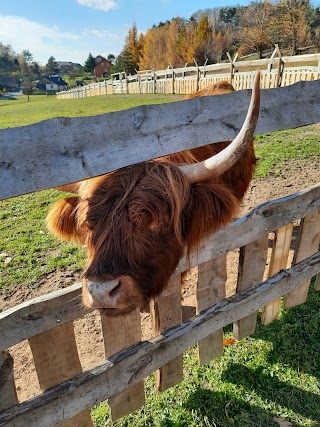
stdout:
POLYGON ((110 80, 76 87, 57 94, 58 99, 83 98, 111 94, 190 94, 221 80, 229 80, 236 90, 250 89, 254 70, 261 70, 263 89, 289 86, 320 76, 320 54, 281 56, 275 49, 271 58, 236 61, 205 66, 142 71, 133 76, 113 74, 110 80), (276 55, 278 55, 276 57, 276 55))

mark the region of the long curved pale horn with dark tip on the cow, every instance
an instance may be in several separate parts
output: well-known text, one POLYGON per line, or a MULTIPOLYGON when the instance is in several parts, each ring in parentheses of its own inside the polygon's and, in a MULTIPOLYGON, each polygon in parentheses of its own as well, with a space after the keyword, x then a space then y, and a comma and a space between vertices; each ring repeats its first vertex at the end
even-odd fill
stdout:
POLYGON ((247 117, 236 138, 220 153, 203 162, 179 166, 191 183, 219 176, 233 166, 244 154, 253 138, 260 108, 260 71, 257 70, 247 117))

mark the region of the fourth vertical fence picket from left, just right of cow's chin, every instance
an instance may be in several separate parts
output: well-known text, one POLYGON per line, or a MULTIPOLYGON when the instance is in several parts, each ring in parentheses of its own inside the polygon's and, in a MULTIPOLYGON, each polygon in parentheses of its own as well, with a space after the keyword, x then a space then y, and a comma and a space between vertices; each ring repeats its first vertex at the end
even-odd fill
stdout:
MULTIPOLYGON (((152 332, 160 335, 182 320, 181 276, 173 276, 167 288, 150 304, 152 332)), ((179 354, 156 372, 156 388, 165 391, 183 380, 183 355, 179 354)))

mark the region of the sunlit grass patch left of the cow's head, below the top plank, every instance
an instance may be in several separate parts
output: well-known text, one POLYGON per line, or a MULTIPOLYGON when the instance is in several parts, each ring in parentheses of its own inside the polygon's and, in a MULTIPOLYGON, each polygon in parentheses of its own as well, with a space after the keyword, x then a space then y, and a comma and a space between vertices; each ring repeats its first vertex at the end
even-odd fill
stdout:
POLYGON ((79 270, 84 250, 61 243, 46 230, 49 206, 58 191, 40 191, 0 202, 0 290, 32 288, 57 269, 79 270), (5 260, 10 258, 9 263, 5 260))

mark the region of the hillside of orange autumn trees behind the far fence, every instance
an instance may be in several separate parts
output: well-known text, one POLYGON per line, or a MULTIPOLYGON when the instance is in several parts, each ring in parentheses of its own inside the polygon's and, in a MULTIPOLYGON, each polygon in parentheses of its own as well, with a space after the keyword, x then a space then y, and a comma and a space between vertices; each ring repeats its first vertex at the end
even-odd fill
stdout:
POLYGON ((112 72, 164 69, 185 64, 221 62, 263 52, 275 44, 298 54, 308 46, 320 47, 320 8, 310 0, 253 1, 248 6, 208 8, 160 22, 138 34, 130 28, 112 72))

